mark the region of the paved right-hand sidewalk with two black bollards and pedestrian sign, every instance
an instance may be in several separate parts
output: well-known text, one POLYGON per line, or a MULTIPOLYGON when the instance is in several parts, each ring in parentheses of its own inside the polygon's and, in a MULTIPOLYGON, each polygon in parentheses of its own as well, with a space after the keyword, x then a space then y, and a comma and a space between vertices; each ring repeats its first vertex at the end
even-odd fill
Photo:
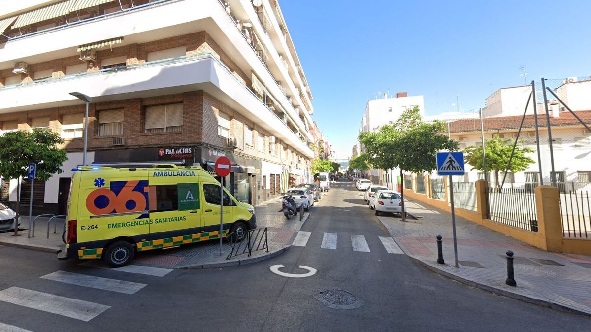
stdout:
POLYGON ((545 252, 456 216, 456 268, 451 214, 424 203, 407 204, 408 213, 417 220, 378 219, 415 261, 473 287, 591 316, 591 256, 545 252), (444 264, 437 263, 437 235, 443 237, 444 264), (506 250, 515 253, 517 287, 505 284, 506 250))

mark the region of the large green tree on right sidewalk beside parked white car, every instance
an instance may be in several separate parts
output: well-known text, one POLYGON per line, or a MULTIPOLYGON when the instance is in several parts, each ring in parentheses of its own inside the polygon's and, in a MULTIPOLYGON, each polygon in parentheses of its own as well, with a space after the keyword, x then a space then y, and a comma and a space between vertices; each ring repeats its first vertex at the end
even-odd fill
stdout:
MULTIPOLYGON (((425 123, 417 106, 405 110, 394 125, 384 125, 378 132, 363 132, 359 142, 365 145, 369 163, 382 170, 400 168, 401 196, 404 210, 404 171, 417 174, 437 168, 439 151, 457 150, 457 142, 442 135, 443 122, 425 123)), ((402 214, 402 220, 406 220, 402 214)))

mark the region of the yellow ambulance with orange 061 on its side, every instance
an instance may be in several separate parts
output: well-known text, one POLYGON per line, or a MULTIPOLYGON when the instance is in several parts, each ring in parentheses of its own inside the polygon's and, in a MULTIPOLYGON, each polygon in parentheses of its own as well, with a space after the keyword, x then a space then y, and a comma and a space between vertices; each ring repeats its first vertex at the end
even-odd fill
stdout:
MULTIPOLYGON (((137 251, 220 237, 220 183, 200 167, 79 167, 72 176, 59 259, 129 263, 137 251)), ((223 232, 240 241, 254 208, 223 189, 223 232)))

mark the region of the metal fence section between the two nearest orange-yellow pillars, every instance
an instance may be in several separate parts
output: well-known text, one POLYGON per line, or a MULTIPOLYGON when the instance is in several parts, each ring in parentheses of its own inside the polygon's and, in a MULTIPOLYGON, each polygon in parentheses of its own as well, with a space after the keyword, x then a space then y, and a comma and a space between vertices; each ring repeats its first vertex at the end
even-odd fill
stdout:
POLYGON ((489 219, 538 232, 534 193, 521 188, 487 187, 489 219))

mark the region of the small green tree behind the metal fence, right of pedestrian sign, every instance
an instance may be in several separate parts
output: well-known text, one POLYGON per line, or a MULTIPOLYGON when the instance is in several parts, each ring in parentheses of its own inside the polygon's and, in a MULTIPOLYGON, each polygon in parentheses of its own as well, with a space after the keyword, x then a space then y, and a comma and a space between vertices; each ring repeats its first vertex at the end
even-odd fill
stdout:
MULTIPOLYGON (((495 137, 492 139, 485 139, 485 145, 486 169, 495 172, 496 187, 500 190, 501 183, 499 183, 499 171, 505 171, 509 164, 509 158, 511 158, 511 151, 513 149, 513 141, 508 138, 495 137)), ((525 155, 528 152, 535 151, 531 148, 520 147, 518 144, 515 147, 509 171, 515 173, 527 170, 530 164, 534 162, 532 158, 525 155)), ((484 170, 482 145, 479 147, 476 147, 475 145, 467 147, 464 149, 464 154, 464 159, 468 164, 472 165, 472 170, 484 170)))

